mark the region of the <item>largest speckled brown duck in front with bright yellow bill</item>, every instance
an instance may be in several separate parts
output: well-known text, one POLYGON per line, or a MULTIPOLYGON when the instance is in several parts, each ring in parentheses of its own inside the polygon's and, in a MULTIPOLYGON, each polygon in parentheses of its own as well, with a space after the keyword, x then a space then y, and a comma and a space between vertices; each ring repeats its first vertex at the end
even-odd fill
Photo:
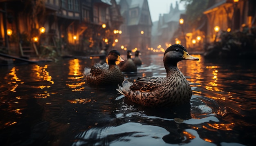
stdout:
POLYGON ((189 103, 192 90, 178 69, 182 60, 199 60, 189 55, 184 46, 173 44, 164 52, 166 77, 139 77, 135 82, 124 80, 117 91, 131 102, 149 107, 171 107, 189 103))

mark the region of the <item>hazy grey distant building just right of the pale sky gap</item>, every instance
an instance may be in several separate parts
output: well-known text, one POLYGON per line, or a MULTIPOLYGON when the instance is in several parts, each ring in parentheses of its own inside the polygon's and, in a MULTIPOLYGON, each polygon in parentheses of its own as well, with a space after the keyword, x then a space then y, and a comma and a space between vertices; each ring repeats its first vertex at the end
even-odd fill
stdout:
POLYGON ((171 39, 179 27, 180 15, 183 13, 185 13, 185 10, 180 10, 179 4, 176 1, 175 8, 173 8, 173 4, 171 4, 169 13, 160 14, 159 20, 153 22, 151 33, 151 44, 153 48, 157 48, 157 46, 161 45, 163 49, 166 49, 166 47, 175 41, 171 39))

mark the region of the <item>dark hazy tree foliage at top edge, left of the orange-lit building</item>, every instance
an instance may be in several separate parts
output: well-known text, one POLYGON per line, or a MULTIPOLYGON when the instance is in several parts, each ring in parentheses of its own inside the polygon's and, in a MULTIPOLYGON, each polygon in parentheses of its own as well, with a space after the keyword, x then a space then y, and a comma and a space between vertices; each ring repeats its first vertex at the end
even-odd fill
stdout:
POLYGON ((186 4, 186 20, 189 26, 195 28, 200 26, 204 16, 203 12, 208 8, 213 0, 180 0, 186 4))

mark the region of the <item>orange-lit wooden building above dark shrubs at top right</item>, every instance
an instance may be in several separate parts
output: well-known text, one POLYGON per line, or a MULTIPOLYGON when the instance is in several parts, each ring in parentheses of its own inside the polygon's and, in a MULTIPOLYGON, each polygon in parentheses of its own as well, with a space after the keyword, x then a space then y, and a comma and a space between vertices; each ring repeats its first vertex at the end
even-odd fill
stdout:
POLYGON ((256 25, 255 0, 215 0, 215 3, 204 11, 207 15, 207 43, 215 41, 216 31, 242 31, 243 27, 256 25))

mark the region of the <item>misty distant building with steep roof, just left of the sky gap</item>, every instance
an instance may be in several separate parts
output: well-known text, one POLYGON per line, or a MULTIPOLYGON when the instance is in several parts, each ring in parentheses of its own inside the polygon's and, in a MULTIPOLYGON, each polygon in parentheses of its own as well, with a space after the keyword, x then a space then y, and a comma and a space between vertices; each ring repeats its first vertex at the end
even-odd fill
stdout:
POLYGON ((137 48, 146 51, 151 46, 152 27, 148 1, 120 0, 119 5, 124 18, 119 45, 130 50, 137 48))

